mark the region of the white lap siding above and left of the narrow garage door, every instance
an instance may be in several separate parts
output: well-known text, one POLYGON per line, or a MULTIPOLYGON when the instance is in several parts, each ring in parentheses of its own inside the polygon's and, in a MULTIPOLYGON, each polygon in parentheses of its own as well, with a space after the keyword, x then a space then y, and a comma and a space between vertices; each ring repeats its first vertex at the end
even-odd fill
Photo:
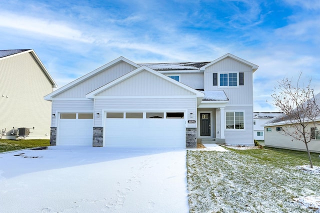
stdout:
POLYGON ((55 118, 52 118, 51 126, 56 126, 58 112, 92 112, 93 100, 53 100, 52 113, 55 118))

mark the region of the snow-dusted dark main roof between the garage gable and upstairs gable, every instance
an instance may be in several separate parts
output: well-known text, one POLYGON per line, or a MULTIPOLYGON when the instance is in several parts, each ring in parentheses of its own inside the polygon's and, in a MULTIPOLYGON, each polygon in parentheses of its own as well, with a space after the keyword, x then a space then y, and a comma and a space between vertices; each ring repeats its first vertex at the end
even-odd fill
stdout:
POLYGON ((138 63, 154 70, 198 70, 209 62, 138 63))

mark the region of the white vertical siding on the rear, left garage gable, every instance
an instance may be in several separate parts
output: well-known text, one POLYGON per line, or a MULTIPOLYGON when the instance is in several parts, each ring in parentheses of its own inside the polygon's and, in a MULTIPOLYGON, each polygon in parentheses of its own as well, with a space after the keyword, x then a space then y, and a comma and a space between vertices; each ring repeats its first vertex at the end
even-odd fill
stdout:
POLYGON ((54 98, 65 98, 65 97, 84 97, 85 94, 93 91, 96 88, 132 71, 136 67, 126 63, 119 62, 105 70, 100 71, 99 73, 91 76, 83 82, 80 82, 73 87, 67 89, 64 92, 61 92, 54 96, 54 98))

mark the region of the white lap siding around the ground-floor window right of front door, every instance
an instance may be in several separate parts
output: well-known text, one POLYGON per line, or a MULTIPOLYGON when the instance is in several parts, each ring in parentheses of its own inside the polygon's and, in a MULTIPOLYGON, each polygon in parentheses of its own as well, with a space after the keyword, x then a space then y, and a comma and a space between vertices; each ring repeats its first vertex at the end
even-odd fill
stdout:
MULTIPOLYGON (((252 145, 253 144, 253 108, 252 106, 227 106, 224 109, 227 111, 243 111, 244 112, 244 130, 243 129, 225 129, 224 136, 227 144, 237 145, 252 145)), ((225 116, 225 114, 224 114, 225 116)))

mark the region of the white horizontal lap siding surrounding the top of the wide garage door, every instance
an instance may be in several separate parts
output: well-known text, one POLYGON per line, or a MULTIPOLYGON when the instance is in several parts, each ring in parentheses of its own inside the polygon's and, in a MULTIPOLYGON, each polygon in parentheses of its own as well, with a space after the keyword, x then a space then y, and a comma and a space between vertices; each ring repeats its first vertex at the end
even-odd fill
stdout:
MULTIPOLYGON (((188 116, 187 119, 196 120, 196 98, 108 98, 108 99, 95 99, 95 110, 102 116, 94 119, 94 126, 102 126, 104 120, 103 110, 117 110, 117 111, 165 111, 167 109, 176 111, 186 109, 188 116), (189 113, 193 113, 193 117, 189 117, 189 113)), ((196 123, 187 123, 186 127, 196 127, 196 123)))

